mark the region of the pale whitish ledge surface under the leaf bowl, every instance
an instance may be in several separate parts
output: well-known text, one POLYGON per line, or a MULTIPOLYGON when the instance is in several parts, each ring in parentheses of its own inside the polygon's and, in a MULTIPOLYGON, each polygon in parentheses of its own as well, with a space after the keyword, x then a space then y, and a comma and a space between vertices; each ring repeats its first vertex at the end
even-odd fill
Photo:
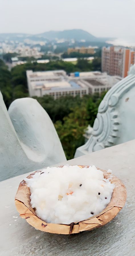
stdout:
POLYGON ((19 183, 28 174, 0 182, 0 256, 134 256, 134 159, 135 140, 65 162, 65 164, 72 165, 94 164, 102 169, 111 169, 127 188, 126 205, 114 220, 104 227, 93 231, 84 231, 77 235, 41 232, 19 217, 14 197, 19 183))

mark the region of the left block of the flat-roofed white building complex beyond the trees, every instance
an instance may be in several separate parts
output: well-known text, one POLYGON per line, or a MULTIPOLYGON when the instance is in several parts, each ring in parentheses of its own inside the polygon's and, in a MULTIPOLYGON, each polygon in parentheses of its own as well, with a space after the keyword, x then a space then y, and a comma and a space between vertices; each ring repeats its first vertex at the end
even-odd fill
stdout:
POLYGON ((88 87, 69 79, 64 70, 42 72, 27 70, 26 75, 30 97, 49 94, 56 99, 67 94, 72 96, 79 94, 80 97, 88 94, 88 87))

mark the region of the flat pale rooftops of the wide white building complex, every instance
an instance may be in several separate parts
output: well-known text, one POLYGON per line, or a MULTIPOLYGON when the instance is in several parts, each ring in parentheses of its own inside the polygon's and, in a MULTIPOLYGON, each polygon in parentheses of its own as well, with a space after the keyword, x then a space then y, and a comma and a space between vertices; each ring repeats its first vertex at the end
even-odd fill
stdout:
POLYGON ((54 90, 86 90, 91 86, 112 87, 121 79, 118 76, 109 76, 107 73, 101 73, 100 71, 79 72, 79 74, 79 77, 75 77, 74 73, 72 73, 71 76, 67 76, 64 70, 37 72, 27 70, 27 76, 33 90, 41 89, 49 92, 54 90))

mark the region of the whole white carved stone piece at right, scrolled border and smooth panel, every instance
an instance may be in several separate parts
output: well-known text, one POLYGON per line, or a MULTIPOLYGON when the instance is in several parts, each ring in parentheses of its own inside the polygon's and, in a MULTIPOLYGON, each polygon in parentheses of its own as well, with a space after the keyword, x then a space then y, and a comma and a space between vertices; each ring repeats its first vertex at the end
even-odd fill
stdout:
POLYGON ((93 132, 75 157, 117 145, 135 138, 135 64, 128 76, 116 83, 98 108, 93 132))

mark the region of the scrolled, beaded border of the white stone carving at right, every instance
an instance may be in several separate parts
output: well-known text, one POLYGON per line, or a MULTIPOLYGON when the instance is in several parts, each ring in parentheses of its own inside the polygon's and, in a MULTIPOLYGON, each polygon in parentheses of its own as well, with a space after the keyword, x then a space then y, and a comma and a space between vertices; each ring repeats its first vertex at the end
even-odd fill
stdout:
MULTIPOLYGON (((133 90, 135 93, 135 65, 130 67, 128 76, 116 83, 105 95, 98 108, 92 135, 86 144, 77 148, 75 157, 117 144, 117 140, 120 138, 120 130, 124 122, 119 102, 121 100, 122 102, 123 100, 124 102, 128 102, 129 97, 124 99, 124 96, 126 96, 127 92, 130 92, 130 90, 133 90)), ((133 138, 135 138, 135 134, 133 134, 133 138)), ((125 138, 124 140, 127 141, 125 138)), ((122 142, 125 141, 121 140, 120 143, 122 142)))

